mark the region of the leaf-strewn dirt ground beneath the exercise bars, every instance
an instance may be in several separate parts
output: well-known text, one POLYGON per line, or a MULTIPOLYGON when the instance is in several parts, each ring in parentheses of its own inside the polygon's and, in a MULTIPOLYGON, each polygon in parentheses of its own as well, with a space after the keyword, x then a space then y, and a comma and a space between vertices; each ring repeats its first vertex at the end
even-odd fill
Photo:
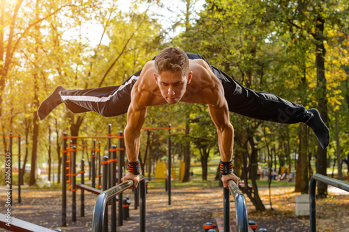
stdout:
MULTIPOLYGON (((349 219, 349 195, 329 188, 330 197, 317 201, 318 231, 342 231, 349 219)), ((2 191, 1 191, 2 192, 2 191)), ((269 190, 260 190, 260 196, 269 206, 269 190)), ((3 194, 1 194, 3 195, 3 194)), ((272 208, 265 212, 255 212, 246 198, 248 219, 254 220, 258 228, 272 231, 309 231, 309 217, 295 216, 295 196, 293 188, 272 189, 272 208)), ((139 210, 134 210, 133 193, 127 190, 124 196, 130 196, 129 220, 117 231, 138 231, 139 210)), ((92 213, 96 195, 85 193, 85 217, 80 217, 80 192, 77 192, 77 222, 71 220, 71 193, 67 199, 67 226, 61 226, 60 190, 22 190, 22 203, 17 203, 17 192, 13 194, 12 217, 39 224, 50 229, 62 231, 91 231, 92 213)), ((5 197, 0 198, 1 211, 4 210, 5 197)), ((215 222, 216 217, 223 218, 223 190, 202 189, 200 187, 172 190, 172 204, 168 205, 165 190, 149 190, 147 194, 147 231, 204 231, 202 224, 215 222)), ((235 217, 234 203, 230 203, 231 217, 235 217)), ((1 212, 5 213, 5 212, 1 212)), ((0 229, 0 231, 5 231, 0 229)))

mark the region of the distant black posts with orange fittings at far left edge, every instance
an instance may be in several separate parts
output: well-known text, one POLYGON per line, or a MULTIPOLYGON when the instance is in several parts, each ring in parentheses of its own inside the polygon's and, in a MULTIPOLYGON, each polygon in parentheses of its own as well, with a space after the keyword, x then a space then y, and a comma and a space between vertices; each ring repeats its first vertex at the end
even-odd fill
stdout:
MULTIPOLYGON (((7 189, 10 191, 10 205, 12 206, 12 157, 15 156, 12 152, 12 145, 13 145, 13 138, 18 138, 18 203, 21 203, 21 185, 20 183, 22 182, 22 179, 21 179, 21 134, 18 134, 18 135, 13 135, 12 132, 10 132, 10 135, 8 135, 8 137, 10 137, 10 144, 9 144, 9 148, 8 148, 8 153, 6 154, 1 154, 0 156, 4 156, 5 157, 5 160, 6 160, 6 157, 10 157, 10 160, 9 160, 9 164, 10 164, 10 183, 9 186, 7 187, 7 189)), ((6 161, 5 161, 6 162, 6 161)), ((6 176, 7 177, 7 176, 6 176)), ((7 185, 7 184, 6 184, 7 185)))

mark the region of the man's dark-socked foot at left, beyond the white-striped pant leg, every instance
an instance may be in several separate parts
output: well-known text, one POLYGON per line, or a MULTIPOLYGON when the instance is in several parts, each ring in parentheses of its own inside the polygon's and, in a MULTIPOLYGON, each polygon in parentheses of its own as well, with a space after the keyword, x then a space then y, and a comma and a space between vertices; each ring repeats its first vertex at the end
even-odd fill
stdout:
POLYGON ((63 103, 60 92, 65 90, 66 89, 62 86, 58 86, 54 89, 53 93, 41 103, 38 107, 38 117, 40 120, 46 118, 54 108, 63 103))

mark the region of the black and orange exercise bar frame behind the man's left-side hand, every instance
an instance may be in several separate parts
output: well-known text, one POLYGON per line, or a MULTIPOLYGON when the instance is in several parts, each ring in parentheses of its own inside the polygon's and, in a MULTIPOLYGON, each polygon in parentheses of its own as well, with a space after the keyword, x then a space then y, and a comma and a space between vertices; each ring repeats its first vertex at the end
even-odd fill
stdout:
MULTIPOLYGON (((116 148, 116 146, 113 146, 113 148, 108 147, 109 150, 109 157, 107 161, 101 161, 101 164, 107 164, 111 166, 111 168, 109 170, 113 170, 111 172, 103 172, 103 181, 106 181, 107 185, 104 186, 103 190, 107 190, 108 187, 108 183, 109 185, 115 185, 116 184, 116 151, 119 151, 119 160, 121 160, 121 162, 119 162, 119 180, 121 179, 122 175, 123 175, 123 169, 124 169, 124 137, 122 136, 122 132, 119 132, 119 134, 110 134, 110 127, 111 125, 108 125, 108 133, 106 137, 75 137, 75 136, 70 136, 68 137, 66 132, 63 133, 63 136, 61 137, 62 139, 62 210, 61 210, 61 226, 66 226, 66 183, 68 183, 68 188, 70 189, 70 191, 72 192, 72 220, 73 222, 76 221, 76 191, 77 188, 79 188, 80 190, 82 190, 82 195, 80 197, 81 199, 81 203, 82 206, 84 206, 84 190, 92 192, 94 194, 100 194, 101 190, 94 190, 94 188, 89 187, 87 185, 84 185, 84 183, 80 183, 79 185, 76 184, 76 176, 78 174, 84 174, 84 170, 76 173, 76 165, 75 165, 75 159, 76 159, 76 151, 77 150, 92 150, 91 152, 91 164, 92 164, 92 185, 94 185, 94 180, 96 179, 96 169, 94 168, 94 163, 95 160, 94 158, 96 157, 95 155, 95 151, 98 151, 98 153, 100 152, 100 148, 96 149, 96 144, 94 141, 94 148, 77 148, 77 144, 72 144, 71 146, 73 146, 72 148, 67 146, 67 139, 108 139, 108 144, 111 144, 111 139, 119 139, 119 148, 116 148), (113 157, 111 157, 111 155, 113 154, 113 157), (66 167, 67 164, 67 157, 70 157, 70 159, 68 160, 68 167, 66 167), (66 173, 68 171, 68 174, 66 173), (107 173, 110 173, 111 176, 109 176, 107 173), (69 178, 69 180, 66 180, 66 178, 69 178)), ((99 156, 99 154, 98 154, 99 156)), ((100 166, 98 164, 98 166, 100 166)), ((82 166, 83 167, 83 166, 82 166)), ((101 168, 100 168, 101 170, 101 168)), ((108 169, 106 169, 108 170, 108 169)), ((101 172, 99 171, 99 175, 98 178, 101 178, 101 172)), ((83 178, 82 178, 83 180, 83 178)), ((99 185, 98 185, 99 186, 99 185)), ((96 187, 96 185, 95 185, 96 187)), ((112 207, 113 203, 112 203, 112 207)), ((119 202, 119 208, 121 208, 121 210, 119 209, 119 212, 121 211, 121 221, 122 221, 122 201, 119 202)), ((84 215, 83 212, 83 207, 82 207, 82 212, 81 215, 84 215)), ((83 217, 83 216, 82 216, 83 217)), ((112 210, 112 217, 115 218, 116 221, 116 210, 112 210)), ((119 216, 120 217, 120 216, 119 216)), ((122 223, 122 222, 121 222, 122 223)))

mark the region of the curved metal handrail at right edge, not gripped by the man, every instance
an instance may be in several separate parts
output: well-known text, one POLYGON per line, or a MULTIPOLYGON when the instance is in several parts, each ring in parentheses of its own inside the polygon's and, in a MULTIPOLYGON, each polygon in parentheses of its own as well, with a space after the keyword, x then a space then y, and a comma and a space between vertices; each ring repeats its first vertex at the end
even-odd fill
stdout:
POLYGON ((311 176, 309 184, 309 204, 310 204, 310 231, 316 231, 316 199, 315 199, 315 190, 316 190, 316 181, 320 181, 327 185, 332 185, 338 187, 341 190, 349 192, 349 183, 345 183, 341 180, 336 180, 328 176, 323 176, 318 173, 311 176))

